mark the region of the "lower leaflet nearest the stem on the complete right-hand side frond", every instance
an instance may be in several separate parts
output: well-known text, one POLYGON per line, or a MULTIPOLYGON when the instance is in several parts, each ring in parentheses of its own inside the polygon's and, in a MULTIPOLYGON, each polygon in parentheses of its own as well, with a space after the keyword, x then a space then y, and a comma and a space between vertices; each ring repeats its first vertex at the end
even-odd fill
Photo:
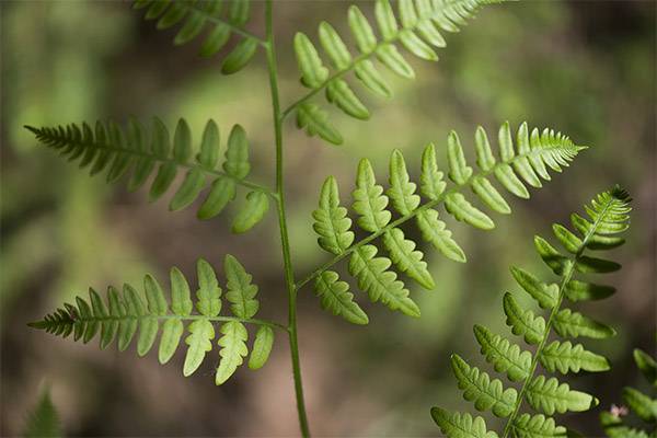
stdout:
POLYGON ((341 314, 354 324, 367 324, 369 322, 367 314, 354 302, 354 295, 347 291, 349 285, 337 279, 337 273, 332 270, 324 270, 318 275, 313 291, 321 297, 320 306, 334 315, 341 314))

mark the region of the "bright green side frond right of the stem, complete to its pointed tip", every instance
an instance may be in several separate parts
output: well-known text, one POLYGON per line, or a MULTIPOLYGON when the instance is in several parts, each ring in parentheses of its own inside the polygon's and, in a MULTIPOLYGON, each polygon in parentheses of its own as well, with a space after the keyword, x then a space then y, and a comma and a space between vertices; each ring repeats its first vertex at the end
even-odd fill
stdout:
POLYGON ((335 283, 337 274, 334 272, 331 272, 328 277, 321 276, 339 260, 349 257, 348 273, 358 277, 359 289, 367 291, 371 301, 381 301, 391 310, 399 309, 411 316, 418 316, 419 308, 408 297, 410 292, 404 281, 395 272, 390 270, 390 267, 394 264, 401 273, 427 289, 435 288, 435 280, 424 261, 419 242, 408 239, 400 226, 415 218, 416 227, 426 241, 431 242, 448 258, 465 262, 463 250, 451 238, 451 231, 446 229, 446 223, 438 219, 439 214, 434 207, 443 204, 446 210, 457 220, 481 229, 492 229, 495 227, 493 219, 474 207, 461 193, 462 188, 470 186, 494 211, 508 214, 508 204, 487 176, 495 175, 507 191, 520 197, 528 197, 529 192, 521 178, 539 187, 541 184, 538 175, 544 180, 550 178, 546 166, 561 171, 561 166, 567 165, 568 161, 584 149, 573 145, 567 137, 548 129, 543 135, 539 135, 538 129, 534 129, 530 136, 526 123, 518 130, 516 146, 508 123, 500 127, 498 139, 500 162, 494 158, 484 129, 477 128, 475 147, 477 165, 481 168, 477 173, 468 165, 461 141, 454 131, 447 141, 449 172, 438 169, 436 148, 433 143, 427 145, 422 155, 419 188, 418 184, 411 181, 404 157, 399 150, 394 150, 390 158, 388 189, 377 184, 369 160, 362 159, 357 171, 357 188, 351 193, 351 208, 358 214, 357 226, 369 235, 355 243, 347 209, 339 206, 337 183, 333 176, 328 176, 322 187, 320 208, 312 215, 315 219, 313 228, 320 235, 319 245, 335 256, 298 283, 297 287, 316 277, 314 291, 322 296, 322 308, 330 307, 334 314, 341 313, 351 322, 364 323, 366 319, 360 314, 360 308, 357 310, 358 316, 354 316, 353 310, 357 304, 353 301, 353 295, 348 292, 347 284, 335 283), (448 183, 443 181, 446 174, 453 183, 449 189, 448 183), (426 199, 423 200, 420 195, 426 199), (380 245, 372 244, 377 238, 381 238, 380 245), (387 252, 385 256, 377 256, 380 249, 387 252), (327 283, 328 278, 332 281, 327 283), (333 297, 324 298, 324 293, 331 293, 333 297))

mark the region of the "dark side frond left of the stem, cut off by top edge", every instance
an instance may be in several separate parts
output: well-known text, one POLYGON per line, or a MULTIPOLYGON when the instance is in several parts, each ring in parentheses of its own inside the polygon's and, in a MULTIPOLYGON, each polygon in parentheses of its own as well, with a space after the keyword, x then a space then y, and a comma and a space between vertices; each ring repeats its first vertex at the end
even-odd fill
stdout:
POLYGON ((231 34, 242 39, 223 61, 221 71, 234 73, 244 67, 255 54, 262 38, 244 31, 249 21, 250 0, 231 0, 228 11, 223 11, 223 0, 137 0, 132 9, 145 9, 146 20, 158 20, 159 30, 169 28, 185 21, 173 44, 183 45, 198 37, 209 27, 198 56, 209 57, 219 51, 230 39, 231 34))

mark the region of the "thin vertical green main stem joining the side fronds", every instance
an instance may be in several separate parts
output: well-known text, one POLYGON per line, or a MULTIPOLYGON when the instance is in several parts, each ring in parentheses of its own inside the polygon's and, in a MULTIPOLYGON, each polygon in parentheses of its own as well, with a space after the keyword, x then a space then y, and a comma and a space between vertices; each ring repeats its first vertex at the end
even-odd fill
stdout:
POLYGON ((303 385, 301 383, 301 366, 299 364, 299 341, 297 336, 297 290, 292 274, 292 258, 285 217, 285 198, 283 185, 283 120, 280 101, 278 97, 278 73, 276 71, 276 54, 272 20, 272 0, 266 2, 267 22, 267 66, 269 69, 269 88, 272 91, 272 106, 274 112, 274 130, 276 136, 276 206, 278 207, 278 226, 280 229, 280 245, 285 264, 285 281, 288 296, 288 333, 290 335, 290 353, 292 359, 292 374, 295 378, 295 393, 297 395, 297 410, 299 412, 299 426, 303 437, 310 437, 306 404, 303 402, 303 385))

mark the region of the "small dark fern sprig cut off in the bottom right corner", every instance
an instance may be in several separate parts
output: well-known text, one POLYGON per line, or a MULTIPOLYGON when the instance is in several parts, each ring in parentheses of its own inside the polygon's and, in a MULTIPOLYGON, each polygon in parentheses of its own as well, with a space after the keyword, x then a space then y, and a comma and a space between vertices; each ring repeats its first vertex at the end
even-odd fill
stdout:
POLYGON ((633 355, 637 368, 654 388, 653 395, 645 394, 631 387, 623 388, 621 395, 624 405, 621 407, 612 406, 610 411, 600 413, 600 424, 610 438, 648 438, 657 435, 657 397, 655 397, 657 364, 647 353, 638 348, 634 349, 633 355), (642 419, 643 428, 632 427, 625 423, 623 416, 630 413, 642 419))

